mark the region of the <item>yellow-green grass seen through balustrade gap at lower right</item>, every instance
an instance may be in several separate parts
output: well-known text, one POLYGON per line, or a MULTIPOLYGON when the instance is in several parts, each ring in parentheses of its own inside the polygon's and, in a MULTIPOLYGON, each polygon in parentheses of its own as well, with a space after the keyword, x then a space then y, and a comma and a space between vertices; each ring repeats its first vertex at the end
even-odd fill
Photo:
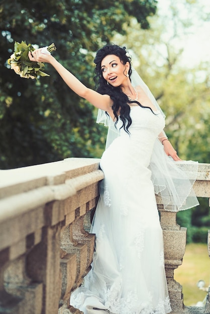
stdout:
POLYGON ((210 259, 207 244, 186 245, 182 265, 175 269, 174 279, 182 285, 184 305, 194 306, 204 299, 206 292, 199 290, 196 283, 202 279, 205 281, 205 286, 210 284, 210 259))

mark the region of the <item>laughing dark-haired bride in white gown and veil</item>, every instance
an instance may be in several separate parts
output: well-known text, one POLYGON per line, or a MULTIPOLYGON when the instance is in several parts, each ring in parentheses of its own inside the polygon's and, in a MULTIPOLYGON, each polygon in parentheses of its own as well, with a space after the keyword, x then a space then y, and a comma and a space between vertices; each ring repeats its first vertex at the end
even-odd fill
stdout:
POLYGON ((96 235, 92 268, 72 293, 71 305, 85 314, 169 313, 155 193, 161 194, 166 210, 190 208, 197 201, 194 179, 190 182, 168 158, 180 161, 163 132, 161 109, 141 78, 132 73, 125 47, 109 44, 96 53, 97 91, 41 49, 29 58, 50 63, 75 93, 99 108, 98 122, 109 124, 108 136, 113 140, 100 162, 104 180, 91 227, 96 235))

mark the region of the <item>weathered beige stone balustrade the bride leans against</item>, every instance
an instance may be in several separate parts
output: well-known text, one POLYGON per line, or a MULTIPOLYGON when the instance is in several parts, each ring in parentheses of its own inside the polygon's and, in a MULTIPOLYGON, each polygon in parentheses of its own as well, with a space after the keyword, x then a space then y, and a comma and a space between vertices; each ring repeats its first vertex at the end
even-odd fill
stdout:
MULTIPOLYGON (((0 170, 0 313, 80 313, 69 296, 92 259, 94 235, 86 230, 103 179, 98 165, 96 159, 72 158, 0 170)), ((199 197, 210 197, 209 172, 210 165, 199 165, 199 197)), ((176 224, 176 213, 164 211, 158 198, 157 203, 173 313, 209 313, 210 292, 205 307, 183 306, 173 272, 182 262, 186 229, 176 224)))

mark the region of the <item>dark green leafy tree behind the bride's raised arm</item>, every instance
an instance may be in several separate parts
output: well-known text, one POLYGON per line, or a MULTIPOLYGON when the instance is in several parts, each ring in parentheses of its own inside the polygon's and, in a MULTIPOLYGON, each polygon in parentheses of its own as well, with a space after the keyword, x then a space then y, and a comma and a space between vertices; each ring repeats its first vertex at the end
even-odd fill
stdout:
POLYGON ((3 1, 0 4, 0 168, 51 162, 71 156, 99 157, 104 128, 96 111, 80 100, 51 67, 50 77, 20 78, 8 69, 14 42, 39 47, 55 43, 56 58, 88 87, 93 56, 114 34, 126 34, 135 17, 142 29, 156 12, 156 0, 3 1))

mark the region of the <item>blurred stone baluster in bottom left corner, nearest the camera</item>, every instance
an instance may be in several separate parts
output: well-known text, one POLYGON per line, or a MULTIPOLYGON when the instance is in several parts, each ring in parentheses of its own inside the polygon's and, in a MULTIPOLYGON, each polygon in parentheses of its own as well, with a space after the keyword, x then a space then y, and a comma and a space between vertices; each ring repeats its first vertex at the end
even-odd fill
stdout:
MULTIPOLYGON (((11 231, 13 224, 11 224, 11 231)), ((29 237, 30 238, 30 237, 29 237)), ((1 292, 0 313, 41 314, 43 284, 35 282, 27 273, 28 237, 0 252, 1 292)))

